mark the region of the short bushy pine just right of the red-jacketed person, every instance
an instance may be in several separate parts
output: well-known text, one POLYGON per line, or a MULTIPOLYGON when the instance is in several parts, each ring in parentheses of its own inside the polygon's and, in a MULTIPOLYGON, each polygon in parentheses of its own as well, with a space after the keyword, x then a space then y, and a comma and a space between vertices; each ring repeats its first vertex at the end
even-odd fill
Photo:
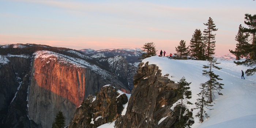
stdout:
POLYGON ((182 59, 182 56, 188 56, 189 49, 186 47, 186 41, 180 41, 180 45, 176 48, 176 52, 177 53, 175 53, 175 56, 180 56, 180 59, 182 59))

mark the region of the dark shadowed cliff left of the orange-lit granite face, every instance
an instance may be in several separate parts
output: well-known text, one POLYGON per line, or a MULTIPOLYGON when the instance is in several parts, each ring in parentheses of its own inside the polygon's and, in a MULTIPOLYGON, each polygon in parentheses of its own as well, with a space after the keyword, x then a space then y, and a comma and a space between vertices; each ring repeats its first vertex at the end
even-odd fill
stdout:
POLYGON ((0 127, 42 128, 27 116, 31 58, 12 56, 7 59, 7 64, 0 65, 0 127))

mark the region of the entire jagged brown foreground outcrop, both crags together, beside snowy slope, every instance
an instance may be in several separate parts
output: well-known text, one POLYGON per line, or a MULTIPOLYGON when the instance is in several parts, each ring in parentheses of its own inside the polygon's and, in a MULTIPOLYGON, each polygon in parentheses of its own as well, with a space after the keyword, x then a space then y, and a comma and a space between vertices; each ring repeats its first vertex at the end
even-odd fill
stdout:
POLYGON ((116 128, 178 128, 174 124, 179 108, 171 109, 178 100, 174 91, 178 84, 167 76, 154 64, 140 63, 125 115, 125 95, 120 99, 112 86, 103 87, 96 100, 92 95, 84 99, 68 128, 96 128, 114 120, 116 128))

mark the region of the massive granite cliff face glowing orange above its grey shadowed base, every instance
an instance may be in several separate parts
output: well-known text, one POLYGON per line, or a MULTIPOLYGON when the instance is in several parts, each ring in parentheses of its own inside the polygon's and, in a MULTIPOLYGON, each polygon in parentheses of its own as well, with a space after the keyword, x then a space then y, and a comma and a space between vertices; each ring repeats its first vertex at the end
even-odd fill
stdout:
POLYGON ((44 128, 52 126, 59 110, 66 117, 65 125, 68 125, 83 99, 98 92, 103 85, 123 87, 113 76, 104 79, 90 68, 75 66, 54 56, 36 58, 31 70, 28 113, 44 128))

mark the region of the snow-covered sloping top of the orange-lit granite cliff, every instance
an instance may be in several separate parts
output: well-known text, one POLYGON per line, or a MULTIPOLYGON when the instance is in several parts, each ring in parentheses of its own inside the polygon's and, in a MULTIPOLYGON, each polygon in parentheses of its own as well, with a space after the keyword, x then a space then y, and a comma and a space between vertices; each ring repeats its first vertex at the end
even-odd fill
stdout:
POLYGON ((70 66, 74 67, 83 67, 83 68, 90 68, 92 71, 94 71, 96 74, 99 74, 102 78, 111 78, 112 76, 110 73, 106 70, 103 70, 99 68, 97 65, 91 64, 85 60, 69 57, 63 54, 51 52, 51 51, 37 51, 33 54, 34 59, 42 58, 43 60, 57 60, 58 63, 61 64, 68 64, 70 66))

